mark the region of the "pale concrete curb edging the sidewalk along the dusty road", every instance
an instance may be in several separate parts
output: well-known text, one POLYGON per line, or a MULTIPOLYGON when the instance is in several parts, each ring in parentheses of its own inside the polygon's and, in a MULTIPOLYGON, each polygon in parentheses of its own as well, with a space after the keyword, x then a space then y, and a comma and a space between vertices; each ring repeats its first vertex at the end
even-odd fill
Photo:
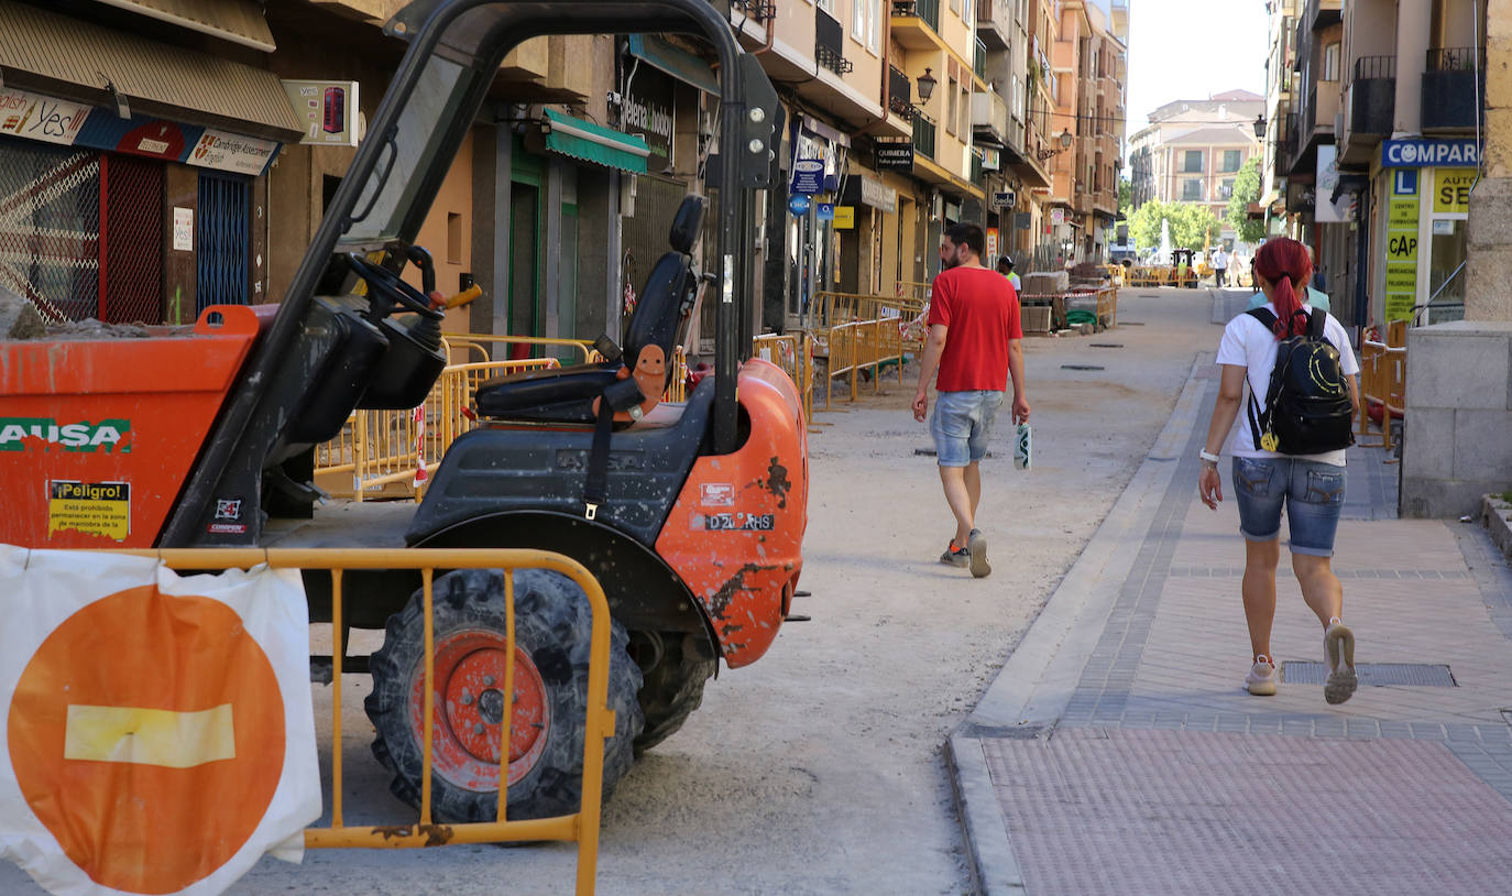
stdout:
POLYGON ((1207 389, 1198 374, 1208 365, 1211 360, 1201 356, 1193 362, 1170 419, 1134 478, 987 686, 981 702, 947 743, 957 811, 983 896, 1022 896, 1025 884, 981 742, 1037 737, 1060 720, 1176 474, 1178 453, 1190 437, 1207 389))

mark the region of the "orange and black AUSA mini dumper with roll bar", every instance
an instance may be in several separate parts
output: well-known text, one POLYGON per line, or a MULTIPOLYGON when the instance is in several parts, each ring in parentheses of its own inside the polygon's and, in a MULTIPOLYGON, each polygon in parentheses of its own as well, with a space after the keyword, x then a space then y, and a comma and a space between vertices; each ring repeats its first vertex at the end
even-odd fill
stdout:
MULTIPOLYGON (((605 790, 634 752, 676 731, 720 658, 771 645, 801 569, 807 446, 800 395, 750 359, 751 213, 777 176, 782 107, 758 61, 703 0, 423 0, 386 27, 410 48, 280 306, 207 309, 147 339, 0 342, 0 542, 27 546, 514 546, 578 558, 614 616, 605 790), (564 11, 570 11, 564 12, 564 11), (438 313, 398 277, 505 53, 544 33, 682 32, 718 59, 723 185, 712 274, 691 269, 703 201, 626 327, 623 357, 478 389, 482 427, 458 437, 423 502, 314 507, 313 445, 354 409, 407 409, 446 363, 438 313), (381 259, 373 262, 369 259, 381 259), (366 282, 366 295, 354 294, 366 282), (715 375, 656 407, 697 289, 717 292, 715 375), (399 313, 402 312, 402 313, 399 313), (738 395, 736 395, 738 386, 738 395), (301 462, 304 472, 299 471, 301 462), (293 507, 295 519, 280 519, 293 507), (299 519, 313 518, 313 519, 299 519)), ((417 801, 423 657, 419 581, 351 572, 343 618, 387 628, 367 669, 373 752, 417 801)), ((491 819, 502 749, 502 574, 435 586, 437 820, 491 819)), ((307 578, 330 621, 325 575, 307 578)), ((516 578, 511 817, 575 811, 588 608, 564 578, 516 578)), ((348 639, 342 639, 349 643, 348 639)), ((328 677, 331 658, 313 657, 328 677)))

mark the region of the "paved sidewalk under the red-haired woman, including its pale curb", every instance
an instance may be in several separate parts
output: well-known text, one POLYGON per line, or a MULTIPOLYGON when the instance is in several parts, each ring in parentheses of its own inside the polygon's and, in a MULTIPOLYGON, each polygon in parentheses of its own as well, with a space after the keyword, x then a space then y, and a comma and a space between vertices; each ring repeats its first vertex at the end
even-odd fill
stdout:
POLYGON ((1208 356, 951 739, 981 890, 1512 891, 1512 572, 1479 527, 1396 519, 1396 465, 1353 448, 1335 568, 1367 683, 1325 704, 1321 630, 1282 551, 1285 677, 1247 695, 1226 460, 1219 510, 1196 495, 1216 394, 1208 356))

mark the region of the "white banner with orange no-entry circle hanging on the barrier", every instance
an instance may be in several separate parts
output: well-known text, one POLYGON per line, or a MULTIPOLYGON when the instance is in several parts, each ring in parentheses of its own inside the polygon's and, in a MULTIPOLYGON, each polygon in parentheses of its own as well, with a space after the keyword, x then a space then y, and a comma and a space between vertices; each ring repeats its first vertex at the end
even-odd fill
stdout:
POLYGON ((321 816, 295 571, 0 546, 0 857, 56 894, 222 893, 321 816))

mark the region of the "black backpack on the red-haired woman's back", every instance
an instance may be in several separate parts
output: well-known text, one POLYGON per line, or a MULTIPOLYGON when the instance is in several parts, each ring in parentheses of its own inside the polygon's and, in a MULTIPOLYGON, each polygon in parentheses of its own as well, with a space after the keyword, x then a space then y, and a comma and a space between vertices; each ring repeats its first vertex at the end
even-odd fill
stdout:
MULTIPOLYGON (((1302 309, 1294 313, 1308 315, 1302 309)), ((1253 309, 1249 315, 1266 324, 1266 330, 1275 330, 1276 315, 1270 309, 1253 309)), ((1314 309, 1306 331, 1276 347, 1264 413, 1250 394, 1249 430, 1256 450, 1323 454, 1355 443, 1355 407, 1338 350, 1323 338, 1326 322, 1328 312, 1314 309)))

